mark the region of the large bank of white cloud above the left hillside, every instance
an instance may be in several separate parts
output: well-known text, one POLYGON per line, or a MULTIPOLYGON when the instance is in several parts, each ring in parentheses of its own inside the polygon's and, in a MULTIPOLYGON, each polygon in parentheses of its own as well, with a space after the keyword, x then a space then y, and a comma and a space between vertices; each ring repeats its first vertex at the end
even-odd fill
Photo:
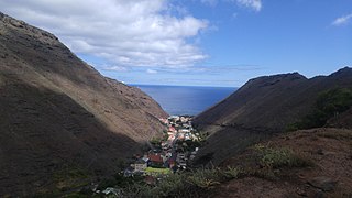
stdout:
POLYGON ((168 0, 0 1, 3 12, 56 34, 75 53, 103 57, 111 69, 188 67, 207 56, 188 38, 208 22, 168 12, 168 0))

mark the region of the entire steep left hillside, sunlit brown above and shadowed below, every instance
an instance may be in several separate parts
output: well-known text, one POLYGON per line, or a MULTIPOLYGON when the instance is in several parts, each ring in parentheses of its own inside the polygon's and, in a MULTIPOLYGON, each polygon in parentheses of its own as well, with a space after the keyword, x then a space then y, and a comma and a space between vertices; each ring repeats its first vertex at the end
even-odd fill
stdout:
POLYGON ((57 37, 0 13, 0 195, 45 188, 79 167, 111 174, 167 117, 140 89, 101 76, 57 37))

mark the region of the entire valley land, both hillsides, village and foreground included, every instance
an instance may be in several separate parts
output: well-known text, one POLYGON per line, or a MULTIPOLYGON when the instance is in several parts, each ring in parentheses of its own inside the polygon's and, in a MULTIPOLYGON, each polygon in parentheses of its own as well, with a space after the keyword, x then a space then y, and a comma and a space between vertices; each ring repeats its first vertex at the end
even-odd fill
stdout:
POLYGON ((169 116, 0 12, 0 197, 352 197, 351 67, 169 116))

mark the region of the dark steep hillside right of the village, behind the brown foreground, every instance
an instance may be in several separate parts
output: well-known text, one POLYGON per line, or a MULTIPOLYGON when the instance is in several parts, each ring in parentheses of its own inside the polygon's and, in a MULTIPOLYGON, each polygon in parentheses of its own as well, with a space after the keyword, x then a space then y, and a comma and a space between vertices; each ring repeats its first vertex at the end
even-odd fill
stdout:
POLYGON ((337 87, 352 87, 352 68, 311 79, 294 73, 249 80, 195 119, 210 134, 198 163, 221 163, 248 145, 284 132, 311 111, 321 91, 337 87))

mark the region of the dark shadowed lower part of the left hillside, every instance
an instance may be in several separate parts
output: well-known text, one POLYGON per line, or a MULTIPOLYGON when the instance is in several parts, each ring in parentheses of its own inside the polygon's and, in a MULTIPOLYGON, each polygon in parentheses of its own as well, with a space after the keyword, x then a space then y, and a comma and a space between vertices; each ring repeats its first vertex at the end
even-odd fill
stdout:
POLYGON ((53 187, 53 175, 67 166, 108 175, 119 158, 139 152, 135 141, 109 131, 66 95, 11 81, 0 88, 0 194, 53 187))

